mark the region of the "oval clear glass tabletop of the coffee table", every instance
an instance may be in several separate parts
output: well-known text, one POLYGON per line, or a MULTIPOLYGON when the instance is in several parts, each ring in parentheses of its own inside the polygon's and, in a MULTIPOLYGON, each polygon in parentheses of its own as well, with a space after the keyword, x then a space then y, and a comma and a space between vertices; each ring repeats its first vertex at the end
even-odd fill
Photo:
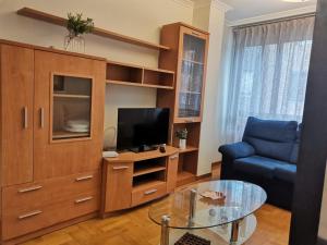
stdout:
POLYGON ((157 224, 164 216, 174 229, 205 229, 241 220, 259 209, 266 201, 266 192, 254 184, 241 181, 210 181, 175 191, 149 208, 149 218, 157 224), (196 192, 194 212, 190 219, 191 191, 196 192), (225 200, 203 197, 206 191, 221 192, 225 200))

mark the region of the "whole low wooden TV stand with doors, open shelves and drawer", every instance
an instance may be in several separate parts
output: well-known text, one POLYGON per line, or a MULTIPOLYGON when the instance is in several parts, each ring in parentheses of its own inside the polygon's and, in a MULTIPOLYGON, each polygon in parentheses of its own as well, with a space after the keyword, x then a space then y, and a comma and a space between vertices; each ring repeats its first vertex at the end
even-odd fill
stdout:
POLYGON ((179 149, 122 152, 104 159, 101 213, 119 211, 160 198, 174 189, 179 149))

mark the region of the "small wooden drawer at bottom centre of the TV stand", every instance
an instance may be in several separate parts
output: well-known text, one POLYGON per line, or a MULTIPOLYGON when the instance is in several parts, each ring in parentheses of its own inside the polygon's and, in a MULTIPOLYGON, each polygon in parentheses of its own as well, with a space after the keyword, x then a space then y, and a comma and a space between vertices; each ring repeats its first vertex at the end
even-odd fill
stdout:
POLYGON ((132 206, 154 200, 167 194, 166 182, 155 182, 145 186, 134 187, 132 192, 132 206))

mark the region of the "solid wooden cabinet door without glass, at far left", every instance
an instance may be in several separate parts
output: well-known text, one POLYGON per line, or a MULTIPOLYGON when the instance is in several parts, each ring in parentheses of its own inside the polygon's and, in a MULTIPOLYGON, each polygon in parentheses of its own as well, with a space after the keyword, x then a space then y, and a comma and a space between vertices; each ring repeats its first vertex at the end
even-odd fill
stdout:
POLYGON ((33 180, 34 50, 1 45, 2 185, 33 180))

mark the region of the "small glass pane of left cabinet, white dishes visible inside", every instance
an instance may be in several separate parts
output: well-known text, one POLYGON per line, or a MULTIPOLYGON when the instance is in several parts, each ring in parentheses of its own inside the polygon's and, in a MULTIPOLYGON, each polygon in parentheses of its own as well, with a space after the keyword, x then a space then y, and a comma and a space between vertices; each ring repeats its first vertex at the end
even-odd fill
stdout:
POLYGON ((52 140, 90 137, 92 78, 53 74, 52 140))

